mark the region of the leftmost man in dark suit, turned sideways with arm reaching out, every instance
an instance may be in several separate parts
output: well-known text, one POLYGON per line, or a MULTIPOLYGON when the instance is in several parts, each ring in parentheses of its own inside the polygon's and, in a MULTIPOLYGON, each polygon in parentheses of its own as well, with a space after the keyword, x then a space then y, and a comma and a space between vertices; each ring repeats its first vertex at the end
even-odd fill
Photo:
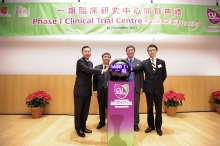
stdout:
POLYGON ((76 133, 80 137, 85 137, 84 133, 92 133, 91 130, 86 128, 92 96, 92 74, 103 74, 108 71, 108 68, 105 70, 93 68, 92 62, 89 61, 91 56, 91 48, 89 46, 82 48, 82 56, 76 64, 76 80, 73 94, 76 133))

